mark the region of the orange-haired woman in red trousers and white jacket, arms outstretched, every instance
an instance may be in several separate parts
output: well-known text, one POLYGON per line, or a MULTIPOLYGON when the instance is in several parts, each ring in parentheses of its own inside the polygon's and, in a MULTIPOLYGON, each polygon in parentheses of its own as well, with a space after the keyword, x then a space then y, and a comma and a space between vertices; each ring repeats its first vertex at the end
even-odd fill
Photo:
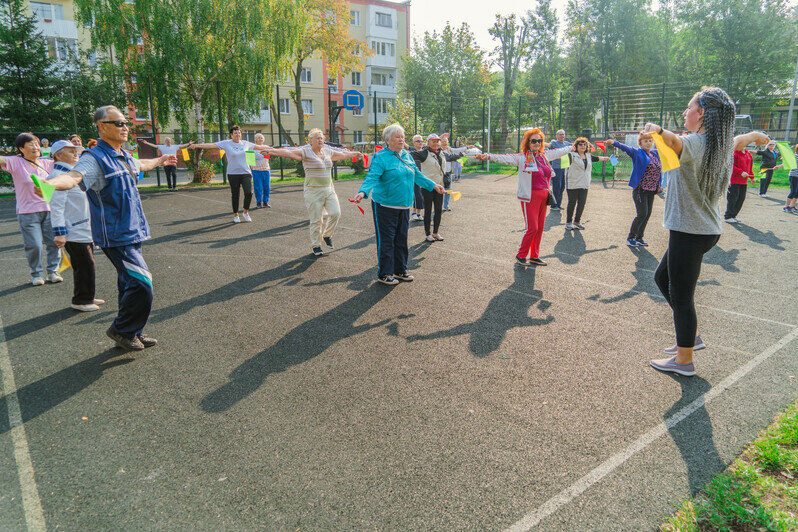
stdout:
POLYGON ((521 202, 521 211, 524 214, 526 231, 521 239, 521 247, 515 259, 523 265, 545 266, 546 262, 540 258, 540 240, 543 238, 543 226, 546 222, 549 197, 549 184, 554 171, 549 161, 559 159, 572 152, 573 146, 566 146, 556 150, 545 151, 543 148, 546 137, 537 128, 530 129, 524 134, 521 142, 522 153, 498 155, 485 153, 477 155, 477 159, 489 159, 497 163, 509 164, 518 167, 518 190, 516 197, 521 202), (529 260, 527 260, 527 256, 529 260))

